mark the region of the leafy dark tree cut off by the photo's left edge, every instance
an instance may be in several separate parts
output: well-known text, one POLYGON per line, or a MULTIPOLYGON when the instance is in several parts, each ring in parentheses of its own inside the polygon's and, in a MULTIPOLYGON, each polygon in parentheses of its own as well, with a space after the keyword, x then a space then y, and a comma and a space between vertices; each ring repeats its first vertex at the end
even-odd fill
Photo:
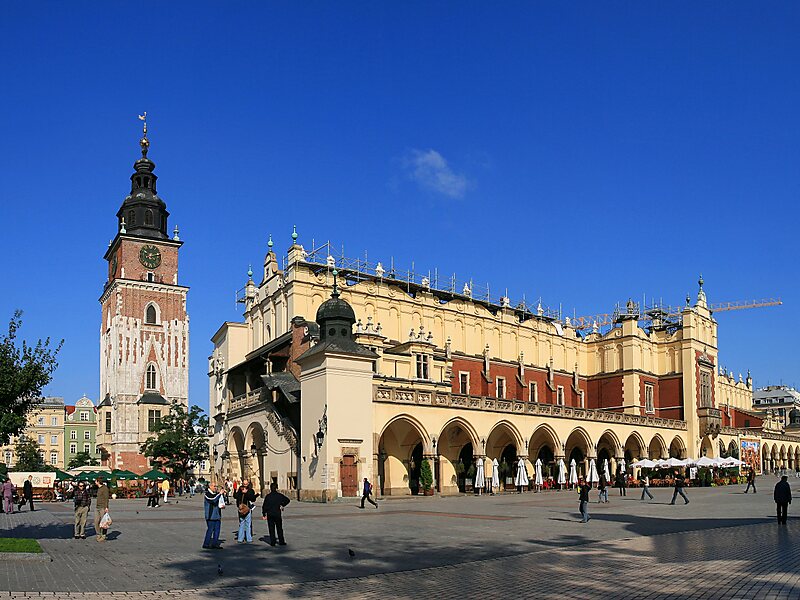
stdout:
POLYGON ((15 311, 8 334, 0 338, 0 446, 19 435, 27 424, 27 414, 35 408, 42 388, 50 383, 58 367, 56 356, 64 344, 50 347, 50 338, 35 346, 17 343, 22 327, 22 311, 15 311))

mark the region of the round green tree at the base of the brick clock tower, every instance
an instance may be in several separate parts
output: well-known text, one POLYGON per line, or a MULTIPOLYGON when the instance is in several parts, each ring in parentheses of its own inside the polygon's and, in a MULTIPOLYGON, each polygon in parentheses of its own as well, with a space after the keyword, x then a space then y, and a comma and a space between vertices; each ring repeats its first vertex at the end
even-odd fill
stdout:
POLYGON ((177 403, 153 427, 155 437, 142 444, 142 454, 168 469, 173 477, 185 477, 191 463, 208 459, 208 417, 199 406, 186 409, 177 403))

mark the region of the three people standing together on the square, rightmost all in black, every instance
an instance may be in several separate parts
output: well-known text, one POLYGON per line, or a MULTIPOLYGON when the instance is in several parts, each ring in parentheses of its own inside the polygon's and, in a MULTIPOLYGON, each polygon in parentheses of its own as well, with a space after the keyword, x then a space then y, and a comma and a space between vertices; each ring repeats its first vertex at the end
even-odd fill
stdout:
MULTIPOLYGON (((203 548, 206 550, 219 550, 222 546, 219 543, 219 533, 222 524, 222 511, 228 505, 225 501, 226 493, 233 496, 236 510, 239 516, 239 530, 236 534, 236 541, 240 544, 253 543, 253 509, 256 506, 257 495, 253 489, 253 484, 245 479, 241 483, 237 482, 236 490, 228 489, 226 480, 219 489, 217 484, 209 484, 203 498, 203 512, 206 519, 206 536, 203 540, 203 548)), ((283 535, 283 510, 290 500, 278 491, 278 484, 272 482, 269 486, 269 493, 264 496, 261 506, 261 518, 267 522, 269 529, 269 545, 285 546, 286 539, 283 535)))

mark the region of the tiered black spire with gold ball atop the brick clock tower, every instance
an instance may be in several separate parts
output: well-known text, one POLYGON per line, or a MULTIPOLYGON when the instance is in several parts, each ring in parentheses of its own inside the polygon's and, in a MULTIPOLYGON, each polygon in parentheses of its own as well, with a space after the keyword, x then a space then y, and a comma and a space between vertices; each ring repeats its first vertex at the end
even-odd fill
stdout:
POLYGON ((150 149, 150 140, 147 138, 147 113, 139 117, 144 121, 142 139, 139 146, 142 157, 133 163, 134 173, 131 175, 131 193, 122 202, 117 211, 117 226, 130 235, 166 240, 167 235, 167 205, 156 193, 156 180, 153 173, 155 163, 147 158, 150 149))

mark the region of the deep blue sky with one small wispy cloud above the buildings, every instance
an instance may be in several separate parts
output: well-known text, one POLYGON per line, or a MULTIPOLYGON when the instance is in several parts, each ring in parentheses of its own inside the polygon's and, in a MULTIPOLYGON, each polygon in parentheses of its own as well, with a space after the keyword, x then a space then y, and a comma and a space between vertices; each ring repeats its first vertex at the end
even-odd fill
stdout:
MULTIPOLYGON (((10 3, 3 293, 97 399, 115 213, 148 111, 186 244, 190 400, 270 233, 542 296, 781 296, 721 313, 721 363, 800 384, 800 5, 10 3)), ((309 315, 306 315, 309 316, 309 315)))

